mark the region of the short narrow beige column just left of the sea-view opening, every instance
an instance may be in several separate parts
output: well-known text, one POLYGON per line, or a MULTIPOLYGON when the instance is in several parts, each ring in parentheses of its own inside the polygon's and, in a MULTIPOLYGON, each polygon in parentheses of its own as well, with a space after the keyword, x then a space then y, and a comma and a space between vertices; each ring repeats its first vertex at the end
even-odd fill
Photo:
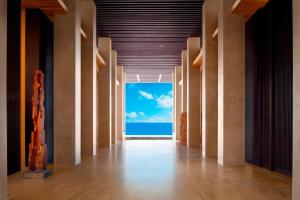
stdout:
POLYGON ((123 140, 123 66, 117 67, 117 141, 123 140))

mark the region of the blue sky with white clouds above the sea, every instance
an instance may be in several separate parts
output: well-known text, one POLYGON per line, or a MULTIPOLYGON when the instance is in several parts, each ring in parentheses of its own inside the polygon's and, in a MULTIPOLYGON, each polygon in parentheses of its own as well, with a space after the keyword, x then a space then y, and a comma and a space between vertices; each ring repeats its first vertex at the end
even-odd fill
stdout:
POLYGON ((127 83, 126 122, 172 122, 172 83, 127 83))

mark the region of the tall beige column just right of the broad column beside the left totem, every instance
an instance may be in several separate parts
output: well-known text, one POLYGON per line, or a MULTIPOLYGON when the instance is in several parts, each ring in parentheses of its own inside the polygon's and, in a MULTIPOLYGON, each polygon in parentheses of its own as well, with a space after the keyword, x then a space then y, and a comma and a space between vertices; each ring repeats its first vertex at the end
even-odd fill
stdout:
POLYGON ((96 155, 96 6, 81 0, 81 25, 87 39, 81 44, 81 154, 96 155))

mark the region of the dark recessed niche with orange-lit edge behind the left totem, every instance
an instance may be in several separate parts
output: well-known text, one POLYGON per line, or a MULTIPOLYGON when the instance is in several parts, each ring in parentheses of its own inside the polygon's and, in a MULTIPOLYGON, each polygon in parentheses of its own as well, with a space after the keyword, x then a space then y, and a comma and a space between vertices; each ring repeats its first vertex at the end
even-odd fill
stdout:
POLYGON ((25 155, 28 164, 32 131, 31 97, 34 70, 44 73, 45 132, 48 162, 53 162, 53 23, 39 9, 26 9, 25 155))

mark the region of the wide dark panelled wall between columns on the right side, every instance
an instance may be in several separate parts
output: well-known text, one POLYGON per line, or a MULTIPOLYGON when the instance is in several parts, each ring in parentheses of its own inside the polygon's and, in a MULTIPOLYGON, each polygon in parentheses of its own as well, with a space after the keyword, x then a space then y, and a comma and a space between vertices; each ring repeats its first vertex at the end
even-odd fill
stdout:
POLYGON ((290 0, 271 1, 246 23, 246 161, 285 174, 292 171, 291 23, 290 0))

